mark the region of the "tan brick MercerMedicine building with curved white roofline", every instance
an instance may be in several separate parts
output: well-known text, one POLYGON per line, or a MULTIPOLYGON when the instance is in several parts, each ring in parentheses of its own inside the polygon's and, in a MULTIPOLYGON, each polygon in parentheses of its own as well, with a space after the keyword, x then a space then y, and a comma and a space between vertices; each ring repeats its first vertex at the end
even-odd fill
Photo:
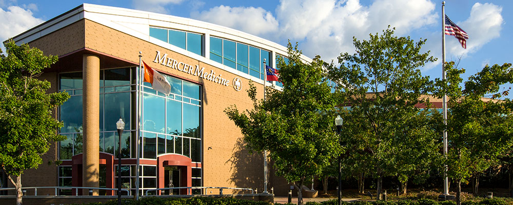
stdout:
MULTIPOLYGON (((249 155, 242 134, 223 112, 251 109, 245 90, 262 93, 264 65, 276 67, 287 49, 269 40, 198 20, 124 8, 83 4, 13 37, 58 63, 44 71, 51 92, 71 98, 55 111, 67 139, 51 145, 44 163, 23 176, 24 187, 117 188, 118 136, 122 134, 122 186, 135 193, 137 96, 142 96, 140 193, 167 187, 240 187, 263 190, 263 157, 249 155), (142 60, 166 75, 169 94, 144 83, 142 60), (98 146, 99 145, 99 146, 98 146), (61 160, 59 166, 47 161, 61 160)), ((309 60, 308 57, 303 56, 309 60)), ((276 84, 280 89, 279 83, 276 84)), ((270 83, 267 83, 270 85, 270 83)), ((270 167, 270 166, 269 166, 270 167)), ((286 194, 287 183, 270 170, 268 188, 286 194)), ((163 194, 216 194, 202 189, 163 194)), ((28 191, 28 195, 31 195, 28 191)), ((38 195, 53 194, 40 190, 38 195)), ((229 191, 225 191, 229 193, 229 191)), ((61 195, 74 195, 61 190, 61 195)), ((110 195, 111 191, 94 194, 110 195)), ((279 193, 278 193, 279 194, 279 193)))

